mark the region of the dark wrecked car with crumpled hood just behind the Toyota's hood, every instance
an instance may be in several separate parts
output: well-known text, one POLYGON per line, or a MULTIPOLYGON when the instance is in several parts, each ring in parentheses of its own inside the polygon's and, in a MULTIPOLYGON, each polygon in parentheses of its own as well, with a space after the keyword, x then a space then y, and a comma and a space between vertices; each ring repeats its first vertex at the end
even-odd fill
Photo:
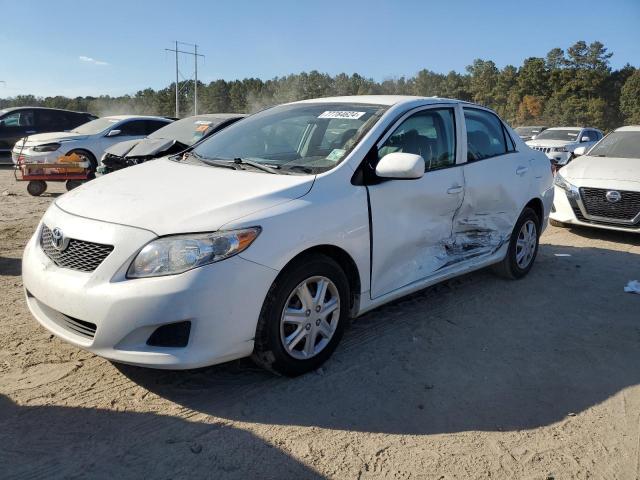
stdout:
POLYGON ((241 118, 239 113, 196 115, 177 120, 143 139, 127 140, 109 147, 98 173, 105 174, 154 158, 180 153, 241 118))

